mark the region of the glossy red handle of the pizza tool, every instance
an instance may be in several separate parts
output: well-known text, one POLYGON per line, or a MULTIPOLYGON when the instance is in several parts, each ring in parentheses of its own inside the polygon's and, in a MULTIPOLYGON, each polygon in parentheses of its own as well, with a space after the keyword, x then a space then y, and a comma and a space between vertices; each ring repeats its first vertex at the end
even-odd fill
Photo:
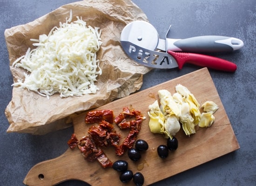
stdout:
POLYGON ((185 63, 190 63, 193 65, 208 67, 215 70, 222 70, 227 72, 236 71, 235 63, 213 56, 198 53, 173 52, 170 50, 168 51, 168 53, 175 58, 178 63, 179 69, 182 69, 185 63))

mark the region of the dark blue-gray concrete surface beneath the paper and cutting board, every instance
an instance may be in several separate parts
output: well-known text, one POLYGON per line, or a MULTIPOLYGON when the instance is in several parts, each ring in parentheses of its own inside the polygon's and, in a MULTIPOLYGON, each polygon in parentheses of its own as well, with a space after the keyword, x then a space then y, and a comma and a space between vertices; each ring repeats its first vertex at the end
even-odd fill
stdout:
MULTIPOLYGON (((68 128, 42 136, 6 133, 8 122, 4 110, 12 97, 13 79, 9 70, 4 30, 33 21, 71 2, 74 0, 0 0, 1 186, 22 186, 22 181, 32 166, 43 160, 58 157, 66 151, 67 140, 73 132, 73 128, 68 128)), ((134 2, 146 13, 161 38, 172 24, 170 33, 172 38, 226 35, 244 41, 244 47, 240 51, 213 54, 236 63, 238 68, 235 73, 209 70, 241 148, 164 179, 153 186, 255 186, 256 1, 134 0, 134 2)), ((188 65, 180 71, 153 70, 144 76, 141 90, 197 69, 199 67, 188 65)), ((58 186, 87 185, 81 181, 70 180, 58 186)))

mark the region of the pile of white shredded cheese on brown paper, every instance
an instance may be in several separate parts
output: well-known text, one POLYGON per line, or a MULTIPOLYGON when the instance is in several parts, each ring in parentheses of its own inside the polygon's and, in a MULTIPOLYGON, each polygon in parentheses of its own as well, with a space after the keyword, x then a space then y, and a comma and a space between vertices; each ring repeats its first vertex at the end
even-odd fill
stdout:
POLYGON ((99 28, 87 27, 86 22, 70 17, 60 27, 54 27, 48 35, 42 34, 35 49, 28 48, 27 53, 13 62, 13 66, 22 67, 25 80, 18 80, 13 86, 35 91, 42 96, 60 93, 60 97, 81 96, 96 93, 98 87, 94 81, 102 71, 96 52, 101 46, 99 28), (97 70, 97 68, 99 70, 97 70))

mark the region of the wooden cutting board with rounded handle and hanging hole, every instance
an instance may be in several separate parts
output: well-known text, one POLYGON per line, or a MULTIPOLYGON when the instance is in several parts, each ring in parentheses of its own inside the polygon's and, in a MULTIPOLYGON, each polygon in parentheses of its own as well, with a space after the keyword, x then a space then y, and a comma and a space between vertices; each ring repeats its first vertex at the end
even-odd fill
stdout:
MULTIPOLYGON (((149 148, 145 153, 142 153, 142 158, 138 162, 130 160, 127 153, 117 157, 113 147, 108 147, 103 151, 113 162, 118 159, 128 161, 128 169, 132 170, 133 173, 141 172, 144 175, 144 185, 181 173, 240 148, 207 68, 134 93, 97 109, 112 109, 117 116, 124 106, 132 106, 147 117, 142 122, 137 139, 146 140, 149 148), (163 138, 162 134, 153 134, 149 131, 148 106, 155 99, 158 99, 158 90, 167 89, 169 92, 175 93, 177 84, 188 87, 201 105, 203 102, 211 100, 219 106, 219 109, 214 114, 216 120, 211 127, 197 128, 196 133, 190 137, 186 136, 181 129, 175 136, 179 142, 178 149, 169 153, 167 159, 161 159, 157 155, 156 149, 159 145, 166 144, 166 139, 163 138)), ((82 113, 73 120, 74 133, 78 139, 87 135, 88 128, 91 126, 85 124, 85 115, 86 113, 82 113)), ((117 126, 115 129, 121 133, 122 138, 126 137, 127 132, 120 131, 117 126)), ((120 173, 113 168, 102 168, 97 161, 88 162, 83 159, 78 148, 71 150, 67 146, 67 151, 60 157, 43 161, 32 167, 23 183, 28 186, 53 186, 68 179, 79 179, 92 186, 117 186, 122 185, 119 175, 120 173)), ((131 180, 125 185, 134 186, 134 183, 131 180)))

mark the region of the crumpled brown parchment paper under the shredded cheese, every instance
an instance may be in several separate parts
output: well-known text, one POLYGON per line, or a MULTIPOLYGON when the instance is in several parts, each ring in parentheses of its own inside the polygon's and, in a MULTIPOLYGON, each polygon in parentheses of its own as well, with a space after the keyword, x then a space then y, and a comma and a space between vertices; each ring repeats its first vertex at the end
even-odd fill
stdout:
POLYGON ((14 68, 14 60, 34 48, 30 39, 48 34, 54 26, 65 22, 73 12, 92 27, 100 27, 102 45, 97 53, 102 75, 98 76, 96 94, 61 98, 55 93, 46 97, 27 89, 13 87, 13 97, 5 114, 10 123, 7 133, 45 134, 71 126, 71 117, 82 111, 102 106, 116 98, 140 89, 143 74, 150 69, 130 60, 123 52, 120 35, 123 27, 134 20, 147 20, 146 15, 130 0, 83 0, 64 5, 39 19, 6 29, 5 38, 9 52, 13 81, 24 79, 22 68, 14 68))

